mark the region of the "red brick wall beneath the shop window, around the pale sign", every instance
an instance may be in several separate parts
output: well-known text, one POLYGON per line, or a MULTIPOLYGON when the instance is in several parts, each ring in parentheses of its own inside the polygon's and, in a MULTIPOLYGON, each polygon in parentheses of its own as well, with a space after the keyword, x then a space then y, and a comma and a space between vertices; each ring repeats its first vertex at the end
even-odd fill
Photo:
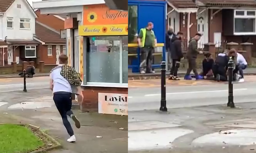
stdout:
POLYGON ((83 111, 98 111, 98 93, 128 94, 128 88, 83 87, 83 111))

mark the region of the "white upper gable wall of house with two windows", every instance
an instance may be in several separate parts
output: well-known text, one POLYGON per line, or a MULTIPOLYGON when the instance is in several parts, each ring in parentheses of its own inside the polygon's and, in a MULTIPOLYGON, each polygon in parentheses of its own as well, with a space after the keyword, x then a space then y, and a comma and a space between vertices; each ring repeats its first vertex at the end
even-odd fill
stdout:
POLYGON ((4 13, 3 19, 3 32, 1 38, 4 39, 26 39, 33 40, 33 34, 35 34, 35 16, 33 10, 24 0, 15 0, 14 3, 4 13), (17 8, 17 4, 21 5, 21 8, 17 8), (13 17, 14 23, 12 29, 7 29, 7 17, 13 17), (30 29, 20 29, 20 18, 30 19, 30 29))

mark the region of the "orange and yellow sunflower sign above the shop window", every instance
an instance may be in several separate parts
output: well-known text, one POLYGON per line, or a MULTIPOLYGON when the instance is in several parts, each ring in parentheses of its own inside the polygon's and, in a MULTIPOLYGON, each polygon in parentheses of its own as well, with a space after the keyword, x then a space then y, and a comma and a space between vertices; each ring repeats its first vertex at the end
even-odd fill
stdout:
POLYGON ((83 8, 80 36, 128 35, 128 12, 110 10, 105 4, 83 8))

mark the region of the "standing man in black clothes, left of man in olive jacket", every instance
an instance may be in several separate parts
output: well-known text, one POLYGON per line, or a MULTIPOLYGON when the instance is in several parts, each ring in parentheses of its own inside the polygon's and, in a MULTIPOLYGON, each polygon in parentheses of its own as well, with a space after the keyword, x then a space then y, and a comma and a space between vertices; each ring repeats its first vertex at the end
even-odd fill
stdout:
POLYGON ((182 32, 178 32, 176 37, 172 38, 173 48, 171 50, 172 56, 172 68, 170 70, 169 80, 180 80, 177 76, 178 68, 180 67, 180 60, 183 58, 181 50, 181 38, 183 37, 182 32))

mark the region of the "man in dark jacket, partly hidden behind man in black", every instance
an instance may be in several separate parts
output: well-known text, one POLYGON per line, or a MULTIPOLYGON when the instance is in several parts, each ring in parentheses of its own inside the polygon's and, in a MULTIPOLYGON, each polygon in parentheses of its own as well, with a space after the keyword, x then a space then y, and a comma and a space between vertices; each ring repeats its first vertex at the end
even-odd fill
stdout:
POLYGON ((171 57, 171 50, 173 48, 172 38, 176 37, 176 35, 173 32, 173 27, 170 26, 169 30, 165 34, 165 47, 166 51, 168 52, 168 65, 171 66, 172 63, 172 57, 171 57))

